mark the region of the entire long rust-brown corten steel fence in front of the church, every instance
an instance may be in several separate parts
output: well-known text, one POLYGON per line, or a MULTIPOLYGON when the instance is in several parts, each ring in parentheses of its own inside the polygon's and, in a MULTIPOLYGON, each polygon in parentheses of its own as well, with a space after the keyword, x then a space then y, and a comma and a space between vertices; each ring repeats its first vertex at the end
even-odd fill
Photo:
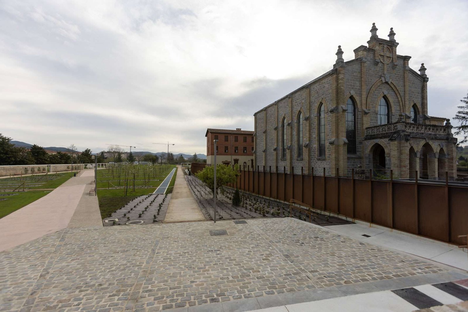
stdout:
MULTIPOLYGON (((192 163, 192 173, 210 166, 192 163)), ((282 201, 300 201, 318 210, 333 212, 377 225, 444 242, 463 244, 468 232, 468 188, 422 180, 357 179, 312 174, 288 174, 285 168, 241 167, 234 188, 282 201)), ((338 170, 338 169, 336 169, 338 170)), ((302 170, 301 170, 302 171, 302 170)), ((416 174, 417 175, 417 174, 416 174)))

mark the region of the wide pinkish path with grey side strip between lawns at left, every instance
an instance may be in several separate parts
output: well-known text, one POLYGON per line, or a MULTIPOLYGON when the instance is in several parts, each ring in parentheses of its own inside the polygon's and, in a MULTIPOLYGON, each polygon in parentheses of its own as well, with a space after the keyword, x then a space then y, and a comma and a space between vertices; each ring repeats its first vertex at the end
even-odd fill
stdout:
POLYGON ((0 251, 67 226, 102 226, 97 196, 89 196, 92 180, 94 170, 83 170, 46 196, 1 218, 0 251))

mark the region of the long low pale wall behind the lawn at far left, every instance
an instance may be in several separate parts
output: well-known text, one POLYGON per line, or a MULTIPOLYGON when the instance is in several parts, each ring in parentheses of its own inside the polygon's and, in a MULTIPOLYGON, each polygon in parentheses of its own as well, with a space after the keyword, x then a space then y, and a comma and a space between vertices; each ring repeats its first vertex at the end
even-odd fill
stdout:
MULTIPOLYGON (((97 164, 98 168, 106 167, 107 164, 97 164)), ((74 170, 83 170, 86 167, 94 167, 94 164, 73 164, 74 170)), ((18 165, 18 166, 0 166, 0 176, 20 175, 20 174, 40 174, 53 173, 59 171, 69 171, 72 169, 72 164, 65 165, 18 165), (31 169, 34 168, 34 171, 31 169)))

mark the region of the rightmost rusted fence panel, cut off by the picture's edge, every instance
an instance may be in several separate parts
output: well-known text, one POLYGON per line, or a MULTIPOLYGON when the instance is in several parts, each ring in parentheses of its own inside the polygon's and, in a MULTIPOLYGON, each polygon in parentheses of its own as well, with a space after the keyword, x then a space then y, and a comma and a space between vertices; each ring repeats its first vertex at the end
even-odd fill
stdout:
POLYGON ((468 190, 466 188, 449 187, 450 205, 450 241, 465 245, 459 235, 468 234, 468 190))

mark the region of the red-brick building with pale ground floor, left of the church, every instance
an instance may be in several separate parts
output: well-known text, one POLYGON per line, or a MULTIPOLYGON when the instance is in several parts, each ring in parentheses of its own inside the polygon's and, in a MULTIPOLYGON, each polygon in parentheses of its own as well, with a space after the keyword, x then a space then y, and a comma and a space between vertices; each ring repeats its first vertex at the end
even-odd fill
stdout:
POLYGON ((206 130, 206 163, 214 164, 214 142, 216 144, 216 162, 218 164, 249 166, 254 165, 254 131, 241 128, 206 130))

